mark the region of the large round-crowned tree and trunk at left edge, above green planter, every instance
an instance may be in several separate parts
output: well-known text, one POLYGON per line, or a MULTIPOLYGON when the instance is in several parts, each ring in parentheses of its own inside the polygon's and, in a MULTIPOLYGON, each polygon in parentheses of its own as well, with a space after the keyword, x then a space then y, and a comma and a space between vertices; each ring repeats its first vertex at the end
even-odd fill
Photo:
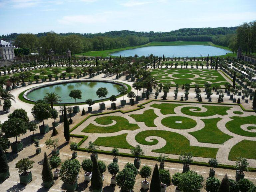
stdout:
POLYGON ((15 137, 15 143, 18 143, 17 137, 27 132, 27 123, 21 118, 13 117, 2 124, 2 131, 10 137, 15 137))

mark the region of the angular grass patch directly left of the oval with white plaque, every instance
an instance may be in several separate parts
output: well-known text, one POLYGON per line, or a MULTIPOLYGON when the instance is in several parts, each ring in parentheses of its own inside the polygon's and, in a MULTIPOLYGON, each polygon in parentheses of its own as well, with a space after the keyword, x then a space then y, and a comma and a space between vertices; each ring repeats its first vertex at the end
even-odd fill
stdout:
POLYGON ((154 119, 158 117, 153 109, 148 109, 143 112, 143 114, 131 114, 129 115, 134 118, 136 121, 144 122, 148 127, 155 127, 154 119))

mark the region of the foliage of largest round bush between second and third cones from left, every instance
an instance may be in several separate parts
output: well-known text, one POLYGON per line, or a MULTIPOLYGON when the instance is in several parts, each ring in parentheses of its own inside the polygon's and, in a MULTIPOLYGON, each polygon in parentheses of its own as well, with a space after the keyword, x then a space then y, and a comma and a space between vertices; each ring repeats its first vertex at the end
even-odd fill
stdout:
POLYGON ((80 170, 80 163, 77 159, 66 160, 61 165, 60 177, 64 183, 74 184, 80 170))

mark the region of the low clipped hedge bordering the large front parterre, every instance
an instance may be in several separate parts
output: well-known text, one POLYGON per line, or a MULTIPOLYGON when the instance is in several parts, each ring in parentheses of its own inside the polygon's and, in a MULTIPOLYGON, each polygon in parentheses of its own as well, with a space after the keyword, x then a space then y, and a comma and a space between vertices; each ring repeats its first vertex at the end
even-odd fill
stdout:
MULTIPOLYGON (((189 101, 171 101, 171 100, 156 100, 156 99, 152 99, 152 100, 149 100, 149 101, 146 101, 144 103, 141 103, 141 104, 138 104, 138 108, 135 108, 135 109, 131 109, 131 110, 128 110, 128 111, 123 111, 121 109, 118 109, 118 110, 114 110, 114 111, 109 111, 109 112, 103 112, 103 113, 97 113, 97 114, 90 114, 88 115, 85 119, 83 119, 81 122, 79 122, 77 125, 75 125, 72 129, 70 129, 69 132, 72 132, 73 130, 75 130, 78 126, 80 126, 83 122, 85 122, 88 118, 92 117, 92 116, 98 116, 98 115, 103 115, 103 114, 110 114, 110 113, 115 113, 115 112, 121 112, 121 113, 128 113, 128 112, 132 112, 132 111, 136 111, 136 110, 139 110, 139 109, 143 109, 145 108, 145 104, 148 104, 150 102, 153 102, 153 101, 161 101, 161 102, 179 102, 179 103, 199 103, 199 102, 189 102, 189 101)), ((200 102, 200 103, 203 103, 203 104, 209 104, 207 102, 200 102)), ((239 105, 242 109, 243 109, 243 106, 241 104, 237 104, 237 103, 227 103, 227 104, 223 104, 223 103, 214 103, 214 104, 219 104, 219 105, 239 105)), ((244 109, 243 109, 244 110, 244 109)), ((244 111, 247 111, 247 110, 244 110, 244 111)), ((252 110, 254 111, 254 110, 252 110)), ((251 111, 249 111, 251 112, 251 111)), ((84 135, 76 135, 76 134, 70 134, 71 136, 73 137, 77 137, 77 138, 83 138, 80 142, 79 142, 79 146, 82 145, 82 143, 84 141, 86 141, 86 139, 88 138, 88 136, 84 136, 84 135)), ((83 151, 83 152, 90 152, 89 149, 86 149, 86 148, 83 148, 83 147, 79 147, 78 148, 78 151, 83 151)), ((103 151, 103 150, 96 150, 96 152, 98 153, 101 153, 101 154, 107 154, 107 155, 110 155, 111 154, 111 151, 103 151)), ((134 155, 132 154, 128 154, 128 153, 120 153, 119 156, 122 156, 122 157, 135 157, 134 155)), ((139 156, 141 159, 148 159, 148 160, 156 160, 157 157, 151 157, 151 156, 146 156, 146 155, 140 155, 139 156)), ((180 160, 178 159, 171 159, 171 158, 167 158, 165 160, 166 162, 173 162, 173 163, 181 163, 180 160)), ((206 167, 209 167, 209 164, 208 163, 205 163, 205 162, 197 162, 197 161, 194 161, 191 163, 191 165, 200 165, 200 166, 206 166, 206 167)), ((223 168, 223 169, 233 169, 235 170, 235 166, 233 165, 223 165, 223 164, 219 164, 218 168, 223 168)), ((256 172, 256 168, 250 168, 250 170, 252 172, 256 172)))

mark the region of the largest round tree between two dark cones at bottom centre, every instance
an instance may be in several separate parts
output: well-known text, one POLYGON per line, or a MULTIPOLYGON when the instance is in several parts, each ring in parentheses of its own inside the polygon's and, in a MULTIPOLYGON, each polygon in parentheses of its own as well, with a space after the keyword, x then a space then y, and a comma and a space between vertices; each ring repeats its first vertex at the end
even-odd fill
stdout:
POLYGON ((130 191, 135 184, 135 175, 130 168, 124 168, 116 177, 117 185, 122 191, 130 191))

